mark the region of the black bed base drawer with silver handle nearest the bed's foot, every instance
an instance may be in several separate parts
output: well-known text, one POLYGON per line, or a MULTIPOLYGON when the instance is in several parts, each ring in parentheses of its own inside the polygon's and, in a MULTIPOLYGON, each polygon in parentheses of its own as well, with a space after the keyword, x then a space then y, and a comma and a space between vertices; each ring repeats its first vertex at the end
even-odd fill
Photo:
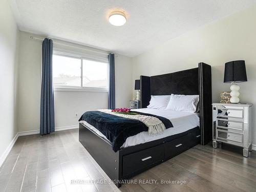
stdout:
POLYGON ((122 176, 133 174, 139 170, 162 162, 164 157, 164 147, 162 144, 148 148, 140 152, 123 156, 122 176))

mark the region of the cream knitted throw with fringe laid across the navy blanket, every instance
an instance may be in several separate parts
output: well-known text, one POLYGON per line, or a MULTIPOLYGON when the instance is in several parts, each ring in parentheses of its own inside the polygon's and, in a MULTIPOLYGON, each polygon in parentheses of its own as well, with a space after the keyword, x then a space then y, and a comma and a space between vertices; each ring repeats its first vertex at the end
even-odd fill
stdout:
MULTIPOLYGON (((138 115, 127 114, 126 115, 126 114, 112 112, 112 110, 98 110, 98 111, 103 112, 103 113, 108 113, 111 115, 116 115, 116 116, 123 117, 123 118, 127 118, 127 119, 139 120, 148 127, 148 134, 150 134, 150 135, 158 134, 166 129, 164 124, 162 123, 162 121, 160 121, 156 117, 140 115, 140 114, 138 114, 138 115)), ((136 112, 134 112, 134 113, 136 113, 136 112)))

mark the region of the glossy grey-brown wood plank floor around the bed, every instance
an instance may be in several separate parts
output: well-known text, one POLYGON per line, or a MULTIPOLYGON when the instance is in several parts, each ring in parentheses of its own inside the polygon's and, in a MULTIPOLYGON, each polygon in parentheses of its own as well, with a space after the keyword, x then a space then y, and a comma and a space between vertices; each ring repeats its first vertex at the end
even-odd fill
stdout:
POLYGON ((137 175, 137 184, 118 189, 114 184, 84 182, 109 178, 79 143, 78 130, 23 136, 0 168, 0 191, 256 191, 256 152, 249 155, 244 158, 240 148, 228 145, 197 145, 137 175), (158 184, 139 183, 146 179, 158 184), (161 180, 186 184, 160 184, 161 180))

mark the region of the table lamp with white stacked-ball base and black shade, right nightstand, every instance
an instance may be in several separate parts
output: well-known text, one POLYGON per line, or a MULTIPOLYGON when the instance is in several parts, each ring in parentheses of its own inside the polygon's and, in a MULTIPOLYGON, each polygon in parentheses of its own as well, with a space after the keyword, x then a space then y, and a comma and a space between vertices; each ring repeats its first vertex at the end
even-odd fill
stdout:
POLYGON ((245 61, 236 60, 225 63, 224 82, 231 82, 230 86, 230 102, 239 103, 239 90, 240 87, 236 84, 237 82, 247 81, 245 61))

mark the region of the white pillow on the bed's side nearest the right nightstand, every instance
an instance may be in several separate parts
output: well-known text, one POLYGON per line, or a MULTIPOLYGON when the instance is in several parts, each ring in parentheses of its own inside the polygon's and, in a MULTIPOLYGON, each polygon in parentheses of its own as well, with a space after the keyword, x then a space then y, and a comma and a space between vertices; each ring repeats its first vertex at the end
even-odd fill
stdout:
POLYGON ((174 95, 170 96, 170 100, 166 110, 185 111, 195 113, 197 112, 197 104, 199 102, 199 95, 174 95))

